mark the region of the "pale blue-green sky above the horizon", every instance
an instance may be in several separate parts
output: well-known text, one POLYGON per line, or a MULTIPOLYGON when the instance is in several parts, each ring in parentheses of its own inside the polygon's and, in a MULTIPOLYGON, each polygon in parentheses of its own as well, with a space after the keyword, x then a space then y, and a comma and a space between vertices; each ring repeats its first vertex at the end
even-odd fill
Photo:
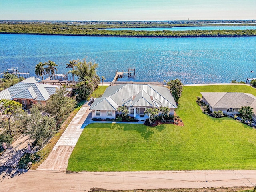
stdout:
POLYGON ((0 0, 0 20, 252 20, 256 0, 0 0))

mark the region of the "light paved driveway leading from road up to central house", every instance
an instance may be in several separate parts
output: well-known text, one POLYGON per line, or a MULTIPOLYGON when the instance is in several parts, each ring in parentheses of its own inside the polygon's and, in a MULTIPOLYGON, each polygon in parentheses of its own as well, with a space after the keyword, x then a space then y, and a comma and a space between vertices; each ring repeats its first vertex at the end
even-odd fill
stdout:
POLYGON ((70 122, 48 158, 37 168, 38 170, 66 171, 68 159, 83 131, 83 123, 89 113, 89 106, 85 103, 70 122))

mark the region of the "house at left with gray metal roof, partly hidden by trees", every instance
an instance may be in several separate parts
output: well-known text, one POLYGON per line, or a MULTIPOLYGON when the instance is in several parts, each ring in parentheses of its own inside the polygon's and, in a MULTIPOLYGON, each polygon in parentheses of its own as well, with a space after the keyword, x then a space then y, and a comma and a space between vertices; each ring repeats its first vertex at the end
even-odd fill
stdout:
MULTIPOLYGON (((27 78, 0 92, 1 99, 10 99, 20 102, 22 105, 46 104, 46 100, 56 92, 57 85, 39 83, 40 79, 27 78)), ((72 89, 67 89, 72 90, 72 89)))

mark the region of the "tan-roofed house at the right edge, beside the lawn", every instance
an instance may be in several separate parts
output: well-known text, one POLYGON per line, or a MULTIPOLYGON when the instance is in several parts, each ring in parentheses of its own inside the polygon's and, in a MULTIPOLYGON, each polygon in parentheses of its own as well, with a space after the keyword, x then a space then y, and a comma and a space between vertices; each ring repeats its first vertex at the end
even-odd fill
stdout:
POLYGON ((242 106, 253 108, 252 119, 256 121, 256 97, 250 93, 201 92, 202 101, 209 105, 210 111, 223 111, 226 114, 239 114, 242 106))

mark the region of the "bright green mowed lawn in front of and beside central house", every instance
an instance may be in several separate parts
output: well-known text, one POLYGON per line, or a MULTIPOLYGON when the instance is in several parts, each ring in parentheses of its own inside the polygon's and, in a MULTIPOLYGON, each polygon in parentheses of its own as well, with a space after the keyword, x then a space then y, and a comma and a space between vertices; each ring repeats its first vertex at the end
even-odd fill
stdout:
POLYGON ((176 113, 184 126, 90 124, 68 161, 71 171, 256 169, 256 130, 212 118, 196 104, 200 92, 248 92, 245 85, 184 87, 176 113))

